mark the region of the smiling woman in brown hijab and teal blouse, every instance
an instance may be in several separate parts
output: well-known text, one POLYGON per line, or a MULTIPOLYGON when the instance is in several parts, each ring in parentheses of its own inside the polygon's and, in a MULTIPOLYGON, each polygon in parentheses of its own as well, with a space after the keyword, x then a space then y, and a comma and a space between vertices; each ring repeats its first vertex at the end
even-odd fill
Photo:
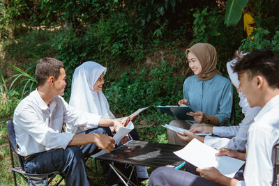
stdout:
MULTIPOLYGON (((197 43, 186 49, 189 67, 194 75, 188 77, 183 84, 183 100, 179 106, 190 106, 195 112, 194 123, 182 120, 174 120, 169 125, 190 129, 197 125, 229 125, 229 117, 232 111, 232 84, 229 79, 220 75, 217 65, 217 52, 209 43, 197 43)), ((176 134, 167 130, 171 144, 185 145, 193 139, 191 133, 185 135, 176 134)))

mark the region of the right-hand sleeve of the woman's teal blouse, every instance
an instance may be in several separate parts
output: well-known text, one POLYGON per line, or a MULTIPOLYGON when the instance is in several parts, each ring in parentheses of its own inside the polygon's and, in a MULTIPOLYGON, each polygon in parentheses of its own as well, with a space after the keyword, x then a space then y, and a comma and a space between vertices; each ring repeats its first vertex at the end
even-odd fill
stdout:
POLYGON ((223 89, 218 114, 215 115, 218 118, 220 126, 229 124, 229 118, 232 112, 232 96, 232 84, 227 82, 223 89))

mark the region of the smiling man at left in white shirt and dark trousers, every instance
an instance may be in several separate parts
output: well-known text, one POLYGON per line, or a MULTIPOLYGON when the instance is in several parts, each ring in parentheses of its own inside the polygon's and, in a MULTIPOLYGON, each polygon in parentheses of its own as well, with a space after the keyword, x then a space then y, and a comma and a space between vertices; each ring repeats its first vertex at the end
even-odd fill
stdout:
POLYGON ((38 88, 17 105, 13 118, 24 171, 62 171, 66 185, 89 185, 84 157, 98 152, 98 148, 110 153, 115 146, 109 127, 118 130, 121 123, 76 111, 63 100, 60 95, 66 87, 66 72, 61 61, 40 59, 36 79, 38 88), (90 130, 84 134, 61 133, 63 123, 90 130))

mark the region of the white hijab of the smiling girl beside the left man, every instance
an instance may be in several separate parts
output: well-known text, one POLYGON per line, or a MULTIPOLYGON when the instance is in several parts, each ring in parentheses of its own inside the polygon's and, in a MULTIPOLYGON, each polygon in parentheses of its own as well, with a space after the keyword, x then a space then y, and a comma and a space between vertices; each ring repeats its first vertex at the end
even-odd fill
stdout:
MULTIPOLYGON (((72 79, 69 104, 79 111, 88 111, 103 118, 115 118, 110 111, 110 105, 104 93, 93 89, 100 75, 102 73, 105 75, 106 71, 107 68, 93 61, 87 61, 78 66, 72 79)), ((84 130, 86 129, 84 128, 84 130)), ((75 130, 67 126, 67 132, 77 133, 81 131, 82 129, 75 130)))

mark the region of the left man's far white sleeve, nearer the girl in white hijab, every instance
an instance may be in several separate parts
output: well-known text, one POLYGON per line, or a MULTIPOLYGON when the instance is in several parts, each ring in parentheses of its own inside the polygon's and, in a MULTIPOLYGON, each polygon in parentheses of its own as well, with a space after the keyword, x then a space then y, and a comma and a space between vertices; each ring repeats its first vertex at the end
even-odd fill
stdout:
POLYGON ((63 119, 67 125, 72 125, 73 127, 86 127, 87 129, 98 127, 101 116, 86 111, 77 111, 77 109, 68 105, 65 100, 62 99, 62 101, 63 119))

